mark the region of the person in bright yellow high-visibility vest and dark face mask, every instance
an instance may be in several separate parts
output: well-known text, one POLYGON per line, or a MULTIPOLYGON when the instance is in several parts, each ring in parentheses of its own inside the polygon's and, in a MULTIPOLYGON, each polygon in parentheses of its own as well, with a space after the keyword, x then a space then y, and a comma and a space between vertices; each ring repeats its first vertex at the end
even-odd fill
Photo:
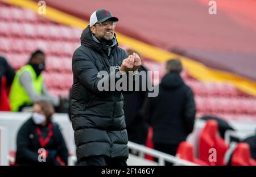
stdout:
POLYGON ((28 64, 18 70, 9 95, 11 111, 22 111, 38 100, 48 100, 54 106, 59 106, 59 98, 50 95, 43 82, 41 73, 46 68, 45 60, 46 55, 36 50, 28 64))

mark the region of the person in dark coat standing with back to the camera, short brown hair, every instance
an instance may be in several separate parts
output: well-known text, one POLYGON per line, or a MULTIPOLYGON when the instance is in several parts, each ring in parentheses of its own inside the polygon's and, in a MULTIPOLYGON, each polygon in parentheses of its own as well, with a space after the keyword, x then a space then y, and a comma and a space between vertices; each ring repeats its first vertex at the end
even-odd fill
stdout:
POLYGON ((181 70, 179 60, 167 61, 159 95, 149 97, 144 105, 145 119, 153 127, 154 148, 171 155, 192 132, 196 114, 193 91, 180 77, 181 70))

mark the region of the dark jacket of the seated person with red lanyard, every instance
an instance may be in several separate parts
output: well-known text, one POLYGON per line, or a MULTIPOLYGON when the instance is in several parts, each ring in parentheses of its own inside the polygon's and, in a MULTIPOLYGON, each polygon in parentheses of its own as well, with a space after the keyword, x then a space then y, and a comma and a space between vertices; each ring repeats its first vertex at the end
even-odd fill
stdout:
POLYGON ((16 163, 19 165, 60 165, 56 157, 59 156, 61 160, 67 165, 68 163, 68 149, 64 138, 60 132, 60 127, 56 123, 52 123, 53 135, 48 144, 43 147, 49 154, 46 162, 38 161, 38 150, 42 148, 39 143, 36 127, 39 127, 43 139, 47 137, 49 128, 36 125, 30 118, 22 127, 20 127, 16 144, 16 163))

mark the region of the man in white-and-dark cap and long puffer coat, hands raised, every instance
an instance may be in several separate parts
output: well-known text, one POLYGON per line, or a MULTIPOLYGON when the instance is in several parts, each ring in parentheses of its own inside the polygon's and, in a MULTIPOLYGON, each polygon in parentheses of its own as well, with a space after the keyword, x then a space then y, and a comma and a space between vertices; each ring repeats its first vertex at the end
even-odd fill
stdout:
MULTIPOLYGON (((125 74, 141 66, 138 54, 127 56, 118 47, 114 34, 117 21, 108 10, 93 12, 90 25, 82 32, 81 46, 73 54, 71 119, 79 165, 127 165, 128 138, 122 96, 125 91, 98 88, 102 79, 110 85, 110 78, 118 78, 119 71, 125 74), (99 78, 100 71, 107 72, 108 77, 99 78)), ((133 81, 134 77, 129 79, 133 81)))

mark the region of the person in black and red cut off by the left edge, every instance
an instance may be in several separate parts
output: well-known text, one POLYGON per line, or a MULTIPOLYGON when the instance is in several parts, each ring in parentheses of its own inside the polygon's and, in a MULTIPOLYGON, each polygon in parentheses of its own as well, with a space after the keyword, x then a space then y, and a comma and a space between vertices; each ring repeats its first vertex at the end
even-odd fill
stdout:
POLYGON ((0 111, 10 111, 8 95, 14 75, 14 69, 0 56, 0 111))

